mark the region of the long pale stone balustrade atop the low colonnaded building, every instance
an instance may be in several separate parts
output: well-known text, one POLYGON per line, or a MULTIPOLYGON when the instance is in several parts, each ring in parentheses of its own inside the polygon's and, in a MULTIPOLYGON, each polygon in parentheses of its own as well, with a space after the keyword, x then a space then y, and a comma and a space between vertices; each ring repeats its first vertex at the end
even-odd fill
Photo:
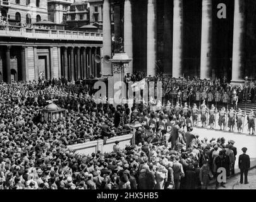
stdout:
POLYGON ((24 28, 11 25, 0 25, 0 37, 21 37, 27 39, 49 40, 86 40, 102 41, 102 33, 76 32, 70 30, 44 30, 40 28, 24 28))

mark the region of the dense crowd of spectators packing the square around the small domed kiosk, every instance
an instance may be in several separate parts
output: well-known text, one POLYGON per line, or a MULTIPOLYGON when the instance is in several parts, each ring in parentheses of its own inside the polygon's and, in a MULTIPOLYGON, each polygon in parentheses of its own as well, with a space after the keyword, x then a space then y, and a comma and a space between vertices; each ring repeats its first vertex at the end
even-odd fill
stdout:
POLYGON ((185 124, 184 109, 152 110, 152 100, 131 109, 95 104, 83 85, 46 83, 0 85, 1 189, 207 189, 219 167, 234 174, 235 142, 200 139, 185 124), (41 122, 40 109, 54 99, 66 117, 41 122), (118 142, 112 153, 67 148, 97 138, 105 143, 130 133, 133 122, 142 126, 125 150, 118 142))

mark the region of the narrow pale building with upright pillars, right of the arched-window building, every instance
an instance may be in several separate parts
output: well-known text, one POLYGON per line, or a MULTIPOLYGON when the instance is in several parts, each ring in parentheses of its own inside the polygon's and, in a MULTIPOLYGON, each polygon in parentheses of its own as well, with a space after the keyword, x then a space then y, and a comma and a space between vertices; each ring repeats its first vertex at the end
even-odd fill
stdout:
POLYGON ((48 0, 48 20, 56 24, 65 24, 72 3, 74 0, 48 0))

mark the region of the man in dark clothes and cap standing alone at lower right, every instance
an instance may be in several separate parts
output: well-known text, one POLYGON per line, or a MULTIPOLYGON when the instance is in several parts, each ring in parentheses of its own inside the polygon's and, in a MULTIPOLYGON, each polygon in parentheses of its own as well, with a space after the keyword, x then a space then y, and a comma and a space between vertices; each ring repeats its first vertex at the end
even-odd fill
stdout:
POLYGON ((238 167, 240 169, 240 183, 243 184, 243 174, 245 174, 245 184, 248 184, 247 175, 250 169, 250 157, 247 155, 247 148, 242 148, 243 154, 238 158, 238 167))

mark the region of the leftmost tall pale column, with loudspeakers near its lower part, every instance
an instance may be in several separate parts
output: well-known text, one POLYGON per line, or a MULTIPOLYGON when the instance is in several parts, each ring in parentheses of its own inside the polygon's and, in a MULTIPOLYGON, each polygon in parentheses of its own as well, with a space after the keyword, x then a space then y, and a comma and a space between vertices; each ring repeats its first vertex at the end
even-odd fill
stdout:
MULTIPOLYGON (((111 4, 110 0, 104 0, 103 3, 103 55, 112 56, 111 39, 111 4)), ((103 61, 103 74, 112 75, 111 62, 103 61)))

